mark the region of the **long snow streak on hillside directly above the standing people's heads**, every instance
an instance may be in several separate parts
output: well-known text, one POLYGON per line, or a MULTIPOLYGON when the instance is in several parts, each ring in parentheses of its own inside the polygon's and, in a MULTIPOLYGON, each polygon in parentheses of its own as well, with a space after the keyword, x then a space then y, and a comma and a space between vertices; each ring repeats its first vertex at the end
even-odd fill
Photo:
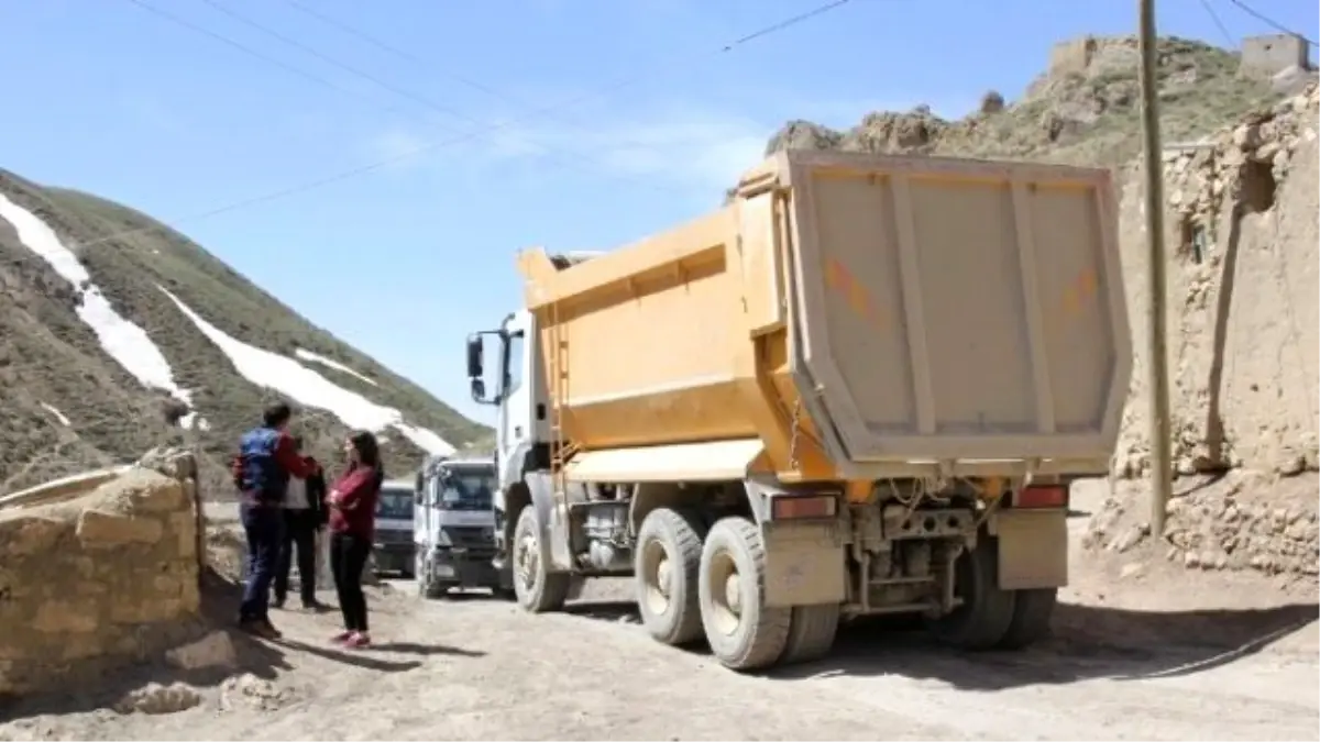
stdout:
POLYGON ((403 413, 397 409, 368 401, 286 355, 249 346, 234 338, 199 317, 165 287, 156 288, 228 356, 234 368, 248 382, 275 389, 300 404, 326 409, 350 428, 372 432, 393 428, 426 453, 447 455, 454 452, 454 446, 434 432, 404 422, 403 413))

